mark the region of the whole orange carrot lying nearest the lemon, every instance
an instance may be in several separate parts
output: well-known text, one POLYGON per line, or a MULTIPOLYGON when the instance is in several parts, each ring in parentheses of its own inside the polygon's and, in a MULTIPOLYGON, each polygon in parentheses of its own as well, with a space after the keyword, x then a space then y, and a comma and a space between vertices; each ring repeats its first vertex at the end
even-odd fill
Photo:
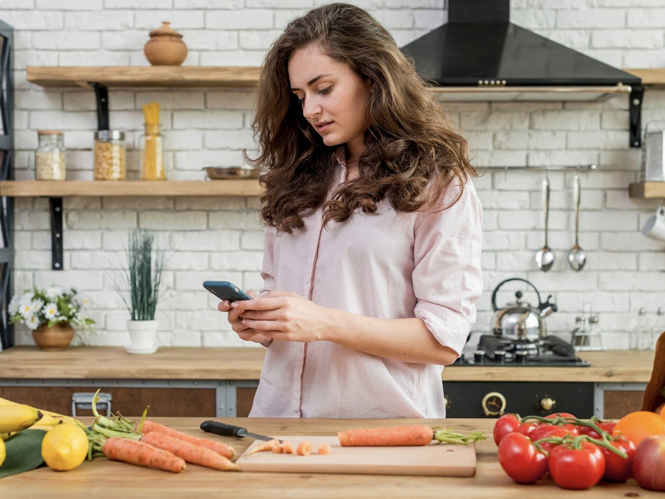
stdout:
POLYGON ((110 437, 104 442, 102 452, 109 459, 138 464, 146 468, 180 473, 186 468, 184 460, 167 450, 153 447, 145 442, 124 437, 110 437))

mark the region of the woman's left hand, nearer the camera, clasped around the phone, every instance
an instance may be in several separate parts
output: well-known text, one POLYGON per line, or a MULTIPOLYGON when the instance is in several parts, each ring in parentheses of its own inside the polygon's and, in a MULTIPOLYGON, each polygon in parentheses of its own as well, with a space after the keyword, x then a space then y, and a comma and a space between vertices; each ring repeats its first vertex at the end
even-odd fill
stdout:
POLYGON ((334 328, 329 310, 294 292, 270 291, 255 300, 234 301, 229 322, 233 313, 243 328, 265 338, 307 343, 326 339, 334 328))

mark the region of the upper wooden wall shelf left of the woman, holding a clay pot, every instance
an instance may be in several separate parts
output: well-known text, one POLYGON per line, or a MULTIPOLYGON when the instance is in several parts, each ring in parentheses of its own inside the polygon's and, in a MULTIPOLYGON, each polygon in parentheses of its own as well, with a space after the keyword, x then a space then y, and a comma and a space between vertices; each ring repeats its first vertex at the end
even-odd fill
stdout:
POLYGON ((258 67, 37 67, 28 66, 29 82, 42 87, 237 87, 252 88, 258 67))

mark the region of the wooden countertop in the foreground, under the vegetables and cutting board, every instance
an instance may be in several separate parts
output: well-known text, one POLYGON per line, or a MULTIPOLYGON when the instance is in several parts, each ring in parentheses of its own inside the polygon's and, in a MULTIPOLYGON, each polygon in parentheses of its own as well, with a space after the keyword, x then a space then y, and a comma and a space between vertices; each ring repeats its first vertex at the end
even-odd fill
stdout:
MULTIPOLYGON (((232 444, 238 454, 251 443, 230 437, 202 434, 199 418, 161 418, 161 423, 192 435, 206 435, 232 444)), ((89 423, 90 418, 83 418, 89 423)), ((421 419, 224 419, 264 435, 335 435, 347 428, 420 424, 421 419)), ((549 477, 536 485, 519 485, 504 473, 497 461, 497 446, 491 437, 493 421, 483 419, 432 419, 432 426, 454 428, 461 432, 481 430, 489 439, 476 444, 477 473, 472 478, 414 477, 387 475, 331 475, 312 473, 233 473, 188 465, 175 475, 140 468, 105 458, 84 462, 73 471, 56 472, 48 468, 0 479, 0 497, 12 499, 73 498, 662 498, 662 493, 640 489, 635 480, 624 484, 601 482, 587 491, 565 491, 549 477)))

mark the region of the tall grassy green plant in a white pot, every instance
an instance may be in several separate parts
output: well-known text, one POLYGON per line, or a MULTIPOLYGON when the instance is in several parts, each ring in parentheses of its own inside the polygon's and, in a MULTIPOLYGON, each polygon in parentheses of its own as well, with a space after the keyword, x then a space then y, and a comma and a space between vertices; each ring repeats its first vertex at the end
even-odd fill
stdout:
POLYGON ((165 253, 156 247, 152 232, 145 229, 130 232, 125 274, 128 289, 121 292, 131 317, 127 321, 130 344, 125 346, 129 353, 157 351, 158 321, 154 312, 165 265, 165 253))

